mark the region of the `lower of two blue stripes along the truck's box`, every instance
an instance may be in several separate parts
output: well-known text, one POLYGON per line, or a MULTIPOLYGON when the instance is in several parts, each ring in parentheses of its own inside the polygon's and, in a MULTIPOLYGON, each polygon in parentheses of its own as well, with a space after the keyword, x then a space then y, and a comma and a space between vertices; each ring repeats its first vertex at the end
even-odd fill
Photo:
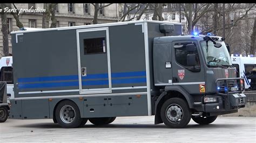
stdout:
MULTIPOLYGON (((125 83, 146 83, 146 77, 140 78, 124 78, 124 79, 113 79, 112 84, 125 84, 125 83)), ((98 80, 98 81, 82 81, 82 85, 108 85, 109 80, 98 80)), ((78 87, 78 81, 72 82, 50 82, 50 83, 19 83, 19 89, 28 88, 53 88, 53 87, 78 87)))

